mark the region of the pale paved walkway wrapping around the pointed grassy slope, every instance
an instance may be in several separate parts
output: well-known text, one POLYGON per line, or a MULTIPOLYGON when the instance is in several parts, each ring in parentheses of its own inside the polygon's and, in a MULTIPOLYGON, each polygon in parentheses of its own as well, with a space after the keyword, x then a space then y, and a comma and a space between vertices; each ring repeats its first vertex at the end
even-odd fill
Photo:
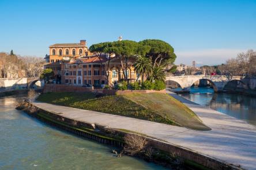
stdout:
POLYGON ((255 126, 218 111, 195 105, 193 102, 175 94, 171 95, 189 106, 202 119, 205 125, 212 128, 212 130, 197 131, 186 129, 185 127, 56 106, 48 103, 35 103, 35 105, 47 111, 62 113, 64 117, 99 123, 111 128, 144 133, 175 145, 208 154, 234 165, 241 165, 244 169, 256 169, 255 126))

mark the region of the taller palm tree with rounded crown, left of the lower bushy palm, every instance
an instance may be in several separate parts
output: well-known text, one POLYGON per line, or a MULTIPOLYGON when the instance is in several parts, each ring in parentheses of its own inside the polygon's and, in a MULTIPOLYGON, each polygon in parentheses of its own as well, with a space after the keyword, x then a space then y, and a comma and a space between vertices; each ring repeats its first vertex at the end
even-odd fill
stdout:
POLYGON ((147 57, 139 56, 133 66, 134 66, 134 70, 142 76, 141 82, 143 82, 144 74, 150 75, 151 73, 152 62, 147 57))

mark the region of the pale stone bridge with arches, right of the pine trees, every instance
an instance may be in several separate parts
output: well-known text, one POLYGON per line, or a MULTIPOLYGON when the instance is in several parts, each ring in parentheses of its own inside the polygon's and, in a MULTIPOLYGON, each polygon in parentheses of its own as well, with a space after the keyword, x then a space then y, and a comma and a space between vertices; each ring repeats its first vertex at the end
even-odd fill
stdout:
POLYGON ((247 88, 246 84, 242 82, 242 76, 225 76, 225 75, 214 75, 214 76, 207 76, 207 75, 188 75, 188 76, 166 76, 166 84, 168 81, 173 81, 179 84, 179 86, 183 90, 190 90, 190 87, 197 82, 198 80, 208 80, 210 84, 212 84, 213 89, 215 92, 223 90, 225 85, 231 81, 239 81, 244 88, 247 88))

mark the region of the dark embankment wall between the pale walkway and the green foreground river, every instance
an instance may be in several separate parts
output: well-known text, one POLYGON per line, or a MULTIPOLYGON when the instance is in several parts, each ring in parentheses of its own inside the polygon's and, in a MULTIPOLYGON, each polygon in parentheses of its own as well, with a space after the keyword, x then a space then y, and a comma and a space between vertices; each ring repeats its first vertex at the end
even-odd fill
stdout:
MULTIPOLYGON (((110 144, 115 146, 123 146, 123 137, 129 132, 123 132, 122 130, 111 129, 104 125, 98 125, 96 123, 81 122, 75 119, 63 117, 62 113, 50 113, 46 110, 37 108, 37 111, 33 113, 38 119, 58 127, 60 129, 67 130, 68 132, 77 134, 78 136, 86 137, 103 144, 110 144)), ((28 110, 29 112, 29 110, 28 110)), ((137 134, 138 135, 138 134, 137 134)), ((228 164, 225 161, 215 159, 214 157, 206 156, 204 154, 195 152, 182 146, 170 144, 168 142, 160 141, 155 138, 145 137, 148 140, 149 145, 153 148, 163 150, 170 155, 179 156, 184 159, 185 162, 192 164, 199 164, 209 169, 223 169, 233 170, 241 169, 235 167, 232 164, 228 164)))

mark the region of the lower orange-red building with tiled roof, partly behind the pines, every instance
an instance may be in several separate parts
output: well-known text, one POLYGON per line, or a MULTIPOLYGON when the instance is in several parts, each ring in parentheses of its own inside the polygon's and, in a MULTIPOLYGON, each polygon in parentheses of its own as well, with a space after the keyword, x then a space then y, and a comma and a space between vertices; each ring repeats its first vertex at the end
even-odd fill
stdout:
MULTIPOLYGON (((101 61, 103 65, 101 65, 98 56, 86 56, 69 63, 63 63, 61 69, 62 83, 71 84, 73 86, 103 87, 104 84, 114 86, 124 79, 121 64, 118 59, 112 59, 108 69, 106 66, 108 57, 106 55, 101 56, 101 61), (109 74, 108 81, 106 72, 109 74)), ((129 61, 127 64, 128 68, 125 72, 127 79, 129 82, 140 81, 140 75, 135 73, 131 63, 132 62, 129 61)))

